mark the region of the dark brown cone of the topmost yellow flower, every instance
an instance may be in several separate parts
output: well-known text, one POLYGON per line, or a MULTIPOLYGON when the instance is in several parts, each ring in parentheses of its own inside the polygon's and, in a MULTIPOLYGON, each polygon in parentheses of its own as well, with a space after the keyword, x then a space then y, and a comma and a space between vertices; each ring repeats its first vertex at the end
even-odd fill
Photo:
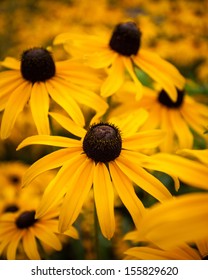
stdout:
POLYGON ((109 46, 124 56, 136 55, 141 44, 141 32, 134 22, 116 25, 109 46))

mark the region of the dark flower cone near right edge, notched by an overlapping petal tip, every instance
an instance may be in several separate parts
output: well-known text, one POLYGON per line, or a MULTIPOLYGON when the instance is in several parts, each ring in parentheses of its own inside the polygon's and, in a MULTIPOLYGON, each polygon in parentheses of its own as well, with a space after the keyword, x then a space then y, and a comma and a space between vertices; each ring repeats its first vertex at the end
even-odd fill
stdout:
POLYGON ((177 89, 177 93, 178 93, 177 100, 175 102, 173 102, 170 99, 169 95, 164 90, 161 90, 161 92, 159 93, 159 96, 158 96, 158 101, 162 105, 164 105, 168 108, 180 108, 181 105, 183 104, 183 100, 184 100, 184 91, 177 89))

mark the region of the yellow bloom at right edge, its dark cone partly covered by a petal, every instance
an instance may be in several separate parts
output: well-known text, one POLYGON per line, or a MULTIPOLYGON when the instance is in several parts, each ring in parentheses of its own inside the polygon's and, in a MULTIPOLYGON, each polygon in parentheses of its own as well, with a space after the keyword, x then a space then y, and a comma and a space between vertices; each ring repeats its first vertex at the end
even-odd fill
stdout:
POLYGON ((193 132, 206 141, 207 135, 204 131, 208 123, 208 106, 194 100, 185 90, 177 89, 177 99, 174 102, 165 90, 156 92, 146 87, 143 97, 135 102, 133 86, 131 83, 127 86, 129 100, 125 102, 126 93, 121 92, 120 100, 123 104, 112 112, 113 115, 127 110, 137 110, 140 107, 146 109, 149 117, 141 130, 160 128, 166 132, 164 141, 160 144, 162 152, 192 149, 195 137, 193 132))

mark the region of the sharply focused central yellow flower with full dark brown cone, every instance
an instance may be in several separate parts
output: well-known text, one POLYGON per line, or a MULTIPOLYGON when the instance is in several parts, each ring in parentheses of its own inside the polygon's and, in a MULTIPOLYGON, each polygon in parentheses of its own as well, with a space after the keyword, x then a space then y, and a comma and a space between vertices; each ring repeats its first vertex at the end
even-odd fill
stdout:
POLYGON ((64 232, 77 219, 93 186, 100 228, 110 239, 115 231, 114 190, 135 225, 138 225, 144 207, 132 181, 161 202, 171 197, 167 188, 142 165, 145 155, 140 151, 158 146, 164 135, 159 130, 137 132, 147 118, 146 111, 141 109, 124 119, 94 123, 87 131, 63 115, 51 113, 51 116, 80 139, 36 135, 19 145, 18 149, 31 144, 63 148, 39 159, 23 178, 23 185, 27 185, 42 172, 61 167, 45 190, 37 218, 45 215, 57 199, 64 196, 59 216, 59 230, 64 232))

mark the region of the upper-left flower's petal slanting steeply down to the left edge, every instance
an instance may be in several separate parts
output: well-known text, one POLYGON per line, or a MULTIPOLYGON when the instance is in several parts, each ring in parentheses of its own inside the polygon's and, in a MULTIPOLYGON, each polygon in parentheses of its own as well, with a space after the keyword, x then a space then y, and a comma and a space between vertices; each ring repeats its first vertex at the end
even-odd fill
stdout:
POLYGON ((14 123, 27 103, 31 93, 31 84, 24 82, 10 96, 6 105, 1 124, 1 138, 9 137, 14 123))

